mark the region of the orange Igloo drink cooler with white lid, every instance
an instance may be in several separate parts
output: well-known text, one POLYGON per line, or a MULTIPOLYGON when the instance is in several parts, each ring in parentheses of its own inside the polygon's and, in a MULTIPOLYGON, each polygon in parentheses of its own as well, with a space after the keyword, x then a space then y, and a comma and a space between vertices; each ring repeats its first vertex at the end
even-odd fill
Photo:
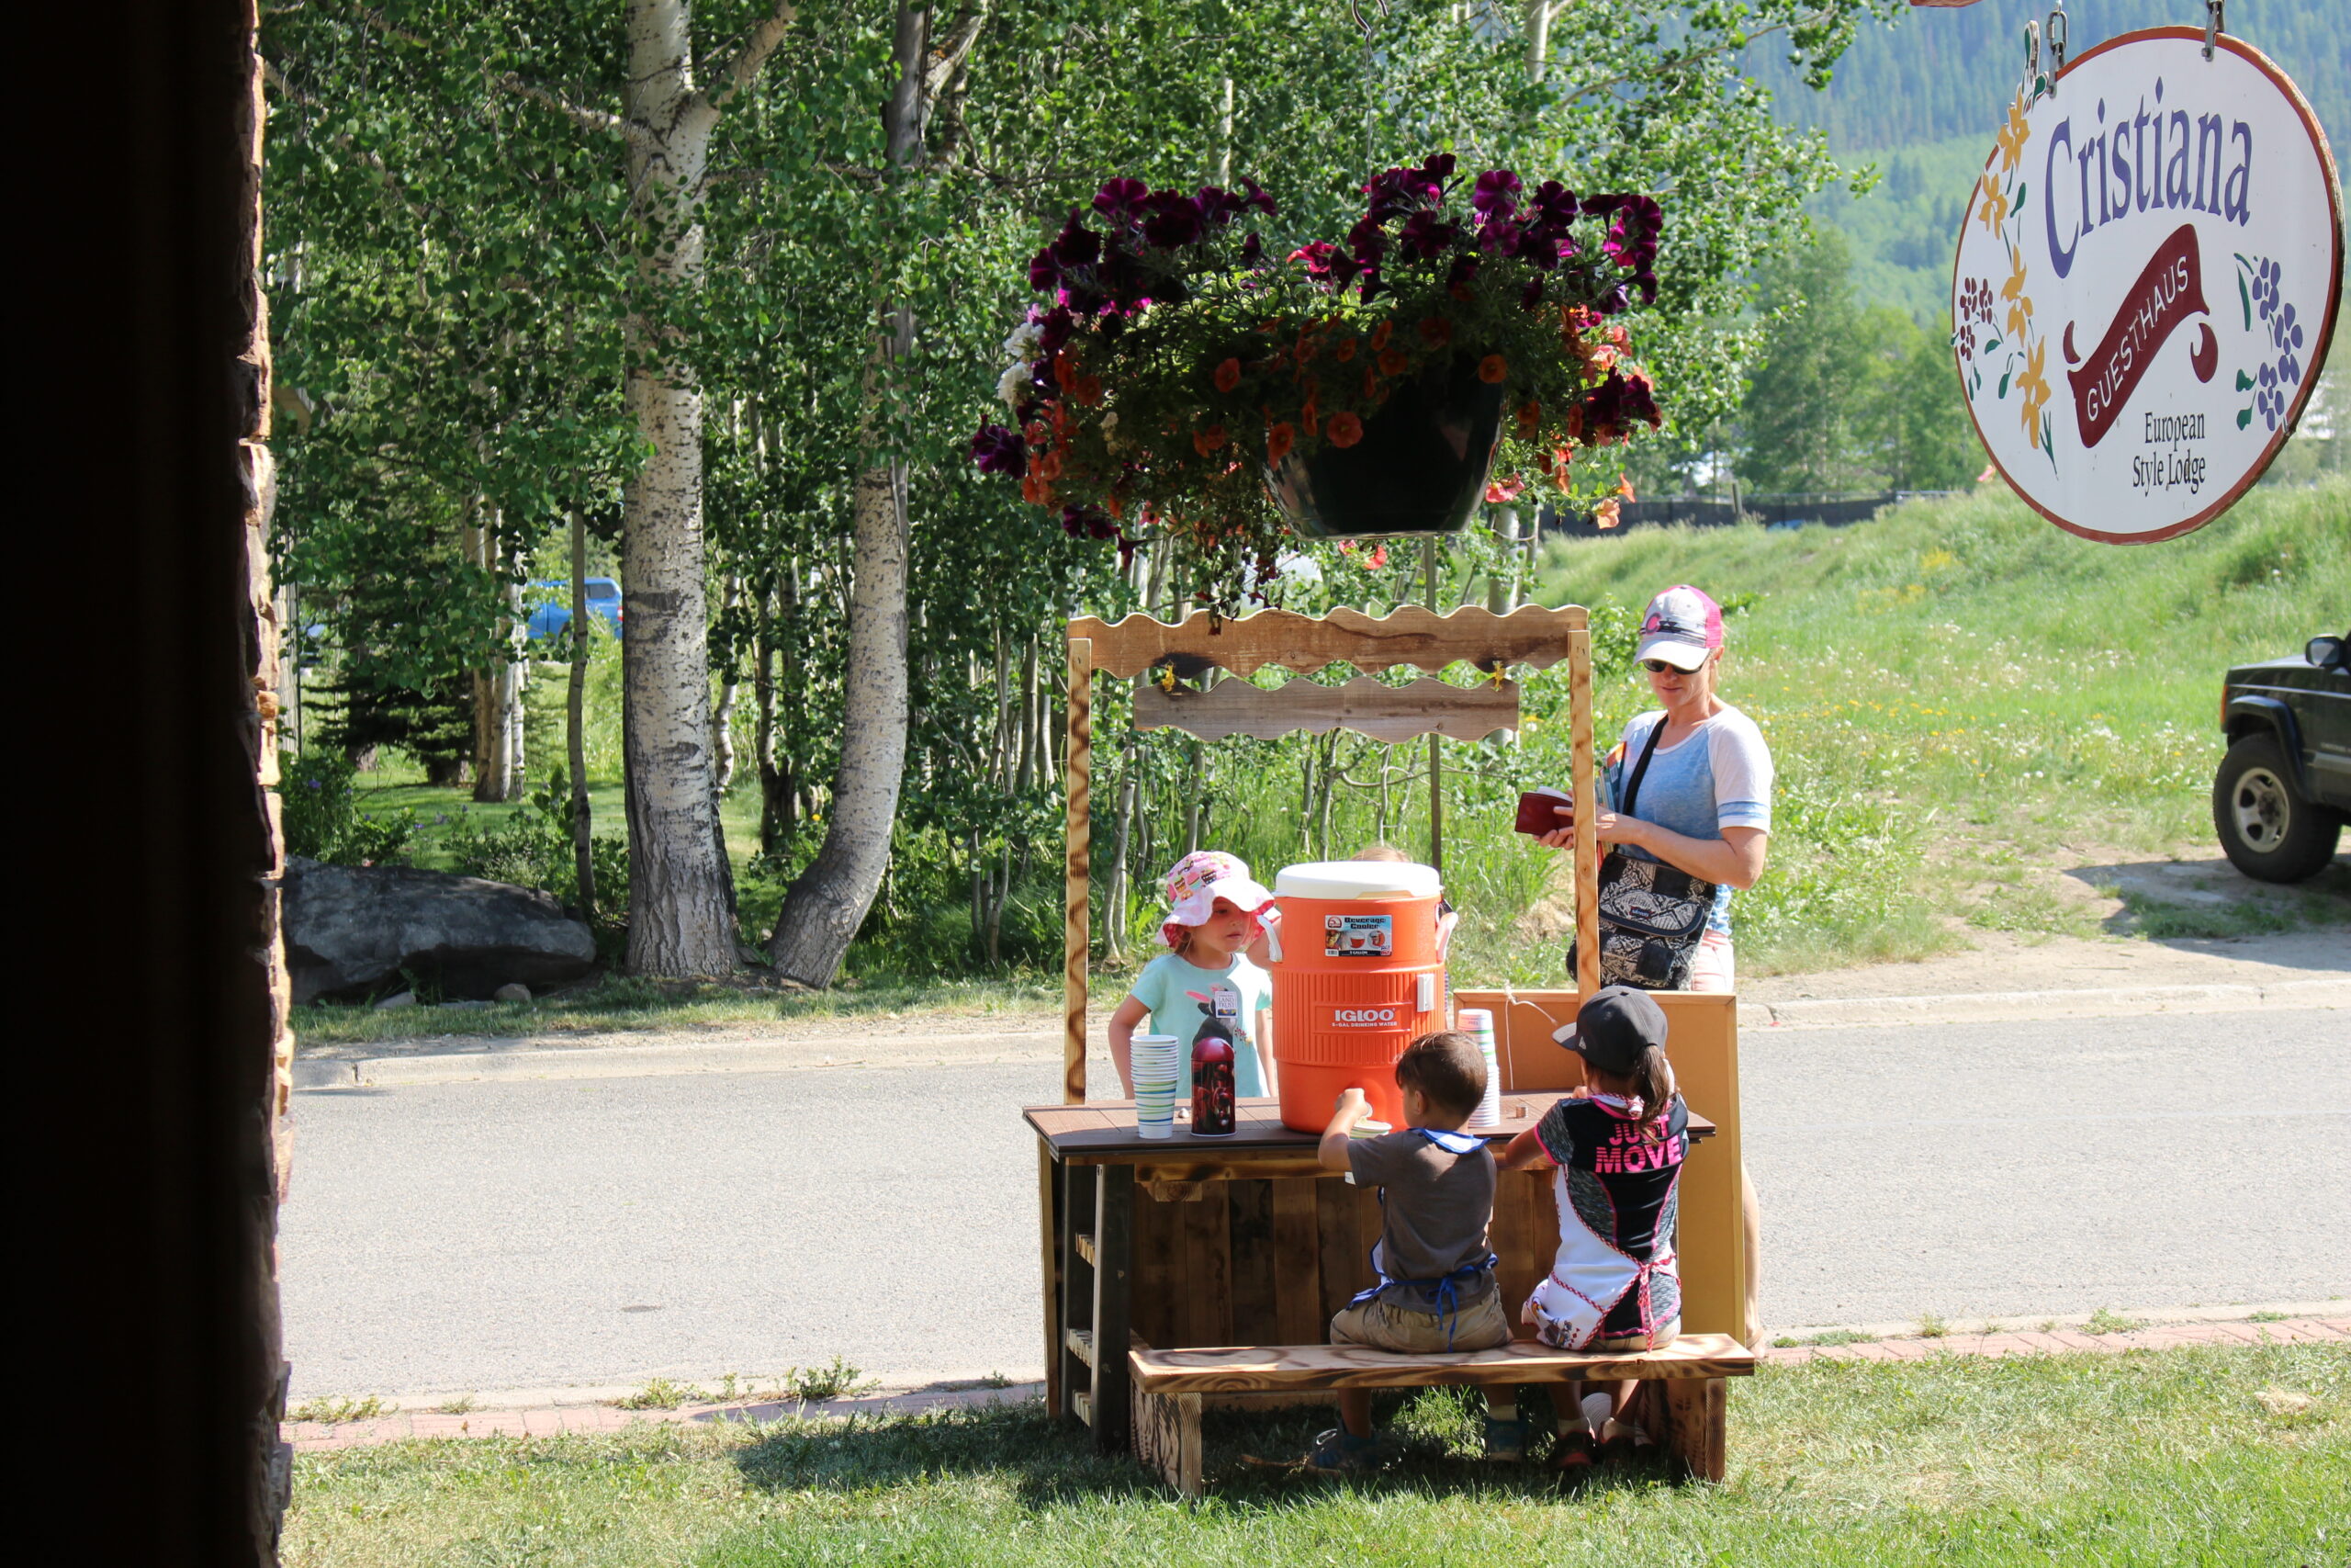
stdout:
POLYGON ((1347 1088, 1404 1126, 1396 1058, 1446 1006, 1436 872, 1399 860, 1312 860, 1274 877, 1274 1060, 1281 1126, 1319 1133, 1347 1088))

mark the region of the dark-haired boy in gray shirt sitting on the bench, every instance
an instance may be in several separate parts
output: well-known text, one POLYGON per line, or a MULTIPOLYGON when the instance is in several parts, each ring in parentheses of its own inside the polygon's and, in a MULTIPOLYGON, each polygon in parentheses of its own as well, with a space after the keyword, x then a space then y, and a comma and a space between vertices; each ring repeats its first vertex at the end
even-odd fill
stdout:
MULTIPOLYGON (((1486 1056, 1472 1034, 1422 1034, 1396 1058, 1404 1131, 1354 1138, 1371 1114, 1361 1088, 1340 1095, 1321 1135, 1324 1171, 1347 1171, 1380 1190, 1380 1246, 1371 1286, 1331 1319, 1333 1345, 1404 1354, 1493 1349, 1509 1342, 1509 1316, 1486 1244, 1493 1222, 1493 1154, 1462 1121, 1486 1093, 1486 1056)), ((1378 1460, 1371 1389, 1340 1389, 1340 1427, 1307 1455, 1314 1469, 1368 1469, 1378 1460)))

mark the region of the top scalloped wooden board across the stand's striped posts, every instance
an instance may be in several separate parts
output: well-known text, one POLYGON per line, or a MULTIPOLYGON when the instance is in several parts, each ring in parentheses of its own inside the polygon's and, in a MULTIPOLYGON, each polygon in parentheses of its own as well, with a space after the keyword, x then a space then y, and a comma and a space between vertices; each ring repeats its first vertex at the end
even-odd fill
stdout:
POLYGON ((1568 632, 1587 625, 1582 604, 1559 609, 1521 604, 1507 616, 1474 604, 1444 616, 1420 604, 1404 604, 1380 618, 1345 607, 1328 616, 1265 609, 1232 621, 1192 611, 1173 625, 1145 614, 1114 623, 1079 616, 1070 621, 1070 637, 1091 639, 1093 668, 1110 675, 1140 675, 1168 654, 1199 658, 1234 675, 1255 675, 1265 665, 1307 675, 1335 663, 1357 670, 1413 665, 1436 672, 1460 661, 1542 670, 1566 658, 1568 632))

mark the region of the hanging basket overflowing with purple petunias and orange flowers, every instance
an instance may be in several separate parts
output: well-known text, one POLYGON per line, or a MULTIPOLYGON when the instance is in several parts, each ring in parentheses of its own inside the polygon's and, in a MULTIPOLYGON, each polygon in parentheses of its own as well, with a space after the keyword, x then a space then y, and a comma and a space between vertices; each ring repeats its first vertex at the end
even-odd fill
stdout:
MULTIPOLYGON (((1580 449, 1660 423, 1613 320, 1657 299, 1655 200, 1488 169, 1458 212, 1439 153, 1364 186, 1342 244, 1277 256, 1248 228, 1274 202, 1241 186, 1114 179, 1030 261, 1011 423, 971 458, 1065 531, 1173 538, 1232 607, 1293 534, 1455 531, 1495 463, 1578 496, 1580 449)), ((1589 468, 1594 496, 1615 484, 1589 468)))

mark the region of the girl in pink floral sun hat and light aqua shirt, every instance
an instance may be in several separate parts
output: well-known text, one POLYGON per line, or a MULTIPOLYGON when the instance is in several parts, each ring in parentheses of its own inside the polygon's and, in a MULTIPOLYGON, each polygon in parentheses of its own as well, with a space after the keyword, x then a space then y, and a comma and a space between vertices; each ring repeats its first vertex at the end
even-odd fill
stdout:
POLYGON ((1168 914, 1159 940, 1168 945, 1136 976, 1126 1001, 1110 1016, 1110 1056, 1126 1093, 1136 1091, 1136 1025, 1173 1034, 1178 1051, 1176 1103, 1192 1098, 1192 1037, 1215 1018, 1232 1034, 1232 1091, 1274 1093, 1272 978, 1248 961, 1248 945, 1279 919, 1274 896, 1248 875, 1248 863, 1220 849, 1197 849, 1166 879, 1168 914))

